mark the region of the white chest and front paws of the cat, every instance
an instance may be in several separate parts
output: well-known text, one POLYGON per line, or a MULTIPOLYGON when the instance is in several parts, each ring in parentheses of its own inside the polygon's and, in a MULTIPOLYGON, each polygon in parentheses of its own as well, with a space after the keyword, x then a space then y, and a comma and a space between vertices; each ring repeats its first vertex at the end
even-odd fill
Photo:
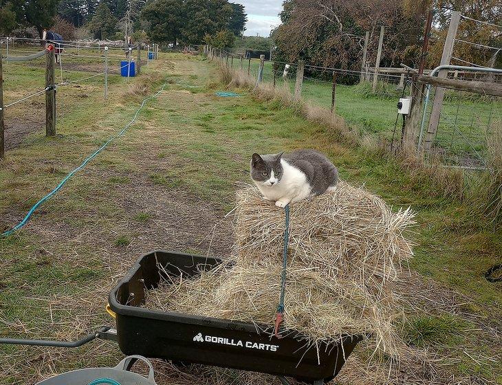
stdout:
POLYGON ((309 197, 312 193, 312 188, 307 181, 307 177, 301 170, 291 166, 284 159, 281 160, 283 166, 283 177, 279 183, 274 186, 265 186, 262 183, 256 183, 257 187, 263 194, 265 199, 270 201, 281 202, 277 206, 285 206, 291 201, 300 201, 309 197))

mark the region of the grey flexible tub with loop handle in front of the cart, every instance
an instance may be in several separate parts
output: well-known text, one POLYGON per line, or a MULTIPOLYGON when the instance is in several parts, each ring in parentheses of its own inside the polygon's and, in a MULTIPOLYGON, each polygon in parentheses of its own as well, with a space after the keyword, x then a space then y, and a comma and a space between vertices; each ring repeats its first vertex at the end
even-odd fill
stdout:
POLYGON ((56 375, 37 385, 156 385, 153 366, 142 355, 129 355, 114 368, 80 369, 56 375), (149 366, 148 377, 127 371, 131 363, 140 360, 149 366))

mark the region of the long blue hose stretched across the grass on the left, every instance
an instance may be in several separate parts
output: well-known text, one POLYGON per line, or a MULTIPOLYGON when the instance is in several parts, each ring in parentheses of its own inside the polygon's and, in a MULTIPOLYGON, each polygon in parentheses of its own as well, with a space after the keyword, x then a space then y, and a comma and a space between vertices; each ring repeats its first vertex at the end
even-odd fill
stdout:
POLYGON ((167 82, 164 83, 164 85, 162 85, 162 88, 160 89, 160 91, 157 91, 157 93, 155 93, 152 96, 149 96, 148 98, 144 98, 143 102, 140 105, 140 108, 138 108, 138 111, 136 111, 136 113, 134 114, 134 117, 131 120, 131 122, 129 122, 126 126, 124 126, 124 128, 118 134, 113 135, 109 140, 107 140, 107 142, 105 142, 105 144, 103 144, 102 146, 100 146, 100 148, 98 148, 96 151, 94 151, 94 153, 92 153, 91 155, 89 155, 89 157, 87 157, 84 160, 84 162, 82 162, 82 164, 80 164, 80 166, 78 166, 77 168, 75 168, 74 170, 72 170, 68 175, 66 175, 66 177, 64 177, 63 180, 61 182, 59 182, 58 186, 56 186, 56 188, 54 188, 54 190, 52 190, 51 192, 49 192, 47 195, 45 195, 45 197, 43 197, 42 199, 40 199, 38 202, 36 202, 34 204, 34 206, 30 209, 30 211, 28 211, 28 214, 25 215, 25 217, 23 218, 23 220, 20 223, 18 223, 17 225, 15 225, 12 229, 7 230, 6 232, 1 233, 0 234, 0 238, 4 237, 4 236, 8 236, 10 234, 13 234, 14 232, 16 232, 17 230, 19 230, 20 228, 22 228, 28 222, 28 220, 30 219, 30 217, 32 216, 32 214, 35 212, 35 210, 37 208, 39 208, 39 206, 41 206, 42 203, 44 203, 45 201, 47 201, 47 199, 50 199, 51 197, 53 197, 54 195, 56 195, 56 192, 58 192, 59 190, 61 190, 61 188, 63 186, 65 186, 66 182, 71 177, 73 177, 79 170, 81 170, 82 168, 84 168, 85 165, 87 163, 89 163, 92 159, 94 159, 94 157, 96 157, 96 155, 98 155, 101 151, 103 151, 108 146, 108 144, 110 144, 113 140, 116 140, 118 137, 122 136, 124 134, 124 132, 127 129, 129 129, 129 127, 136 121, 136 119, 138 118, 138 114, 140 113, 140 111, 144 107, 144 104, 146 104, 146 102, 148 102, 149 100, 151 100, 153 98, 156 98, 162 91, 164 91, 164 88, 166 87, 166 85, 167 85, 167 82))

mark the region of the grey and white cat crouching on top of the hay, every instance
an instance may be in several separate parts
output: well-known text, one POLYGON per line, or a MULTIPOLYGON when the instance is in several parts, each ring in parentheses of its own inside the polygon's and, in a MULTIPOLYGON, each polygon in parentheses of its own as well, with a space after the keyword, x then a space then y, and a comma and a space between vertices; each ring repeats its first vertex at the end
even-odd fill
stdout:
POLYGON ((254 153, 251 179, 265 199, 285 207, 290 202, 333 190, 338 181, 338 170, 325 155, 314 150, 272 155, 254 153))

